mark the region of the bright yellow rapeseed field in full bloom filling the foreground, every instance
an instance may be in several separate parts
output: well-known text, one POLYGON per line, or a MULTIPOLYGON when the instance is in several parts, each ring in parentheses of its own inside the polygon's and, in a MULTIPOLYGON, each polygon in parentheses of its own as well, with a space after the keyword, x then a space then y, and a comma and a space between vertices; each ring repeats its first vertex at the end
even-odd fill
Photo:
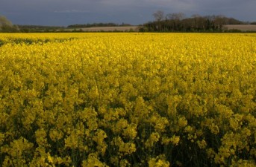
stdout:
POLYGON ((0 166, 255 166, 255 33, 0 33, 0 166))

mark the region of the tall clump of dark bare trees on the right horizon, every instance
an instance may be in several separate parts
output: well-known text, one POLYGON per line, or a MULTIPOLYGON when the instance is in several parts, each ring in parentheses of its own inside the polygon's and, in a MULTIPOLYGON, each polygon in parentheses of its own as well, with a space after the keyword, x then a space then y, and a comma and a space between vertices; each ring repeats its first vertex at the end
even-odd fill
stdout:
POLYGON ((255 24, 255 22, 241 22, 226 16, 199 16, 189 18, 184 13, 170 13, 166 16, 163 11, 153 14, 154 22, 147 22, 140 27, 144 32, 225 32, 224 24, 255 24))

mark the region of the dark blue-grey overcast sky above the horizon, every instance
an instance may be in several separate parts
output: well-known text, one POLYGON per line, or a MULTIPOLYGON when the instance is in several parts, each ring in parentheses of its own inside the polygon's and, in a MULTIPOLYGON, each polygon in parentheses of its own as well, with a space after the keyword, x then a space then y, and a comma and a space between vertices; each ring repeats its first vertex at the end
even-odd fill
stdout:
POLYGON ((13 24, 143 24, 154 20, 157 10, 256 21, 256 0, 0 0, 0 15, 13 24))

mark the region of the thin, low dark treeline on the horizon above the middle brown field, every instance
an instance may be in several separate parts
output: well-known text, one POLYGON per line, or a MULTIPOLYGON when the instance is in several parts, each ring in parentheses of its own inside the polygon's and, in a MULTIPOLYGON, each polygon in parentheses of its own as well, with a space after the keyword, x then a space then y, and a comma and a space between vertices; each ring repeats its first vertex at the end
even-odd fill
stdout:
POLYGON ((117 26, 131 26, 131 24, 126 24, 126 23, 122 23, 122 24, 116 24, 113 22, 109 22, 109 23, 93 23, 93 24, 72 24, 69 25, 69 28, 87 28, 87 27, 117 27, 117 26))

